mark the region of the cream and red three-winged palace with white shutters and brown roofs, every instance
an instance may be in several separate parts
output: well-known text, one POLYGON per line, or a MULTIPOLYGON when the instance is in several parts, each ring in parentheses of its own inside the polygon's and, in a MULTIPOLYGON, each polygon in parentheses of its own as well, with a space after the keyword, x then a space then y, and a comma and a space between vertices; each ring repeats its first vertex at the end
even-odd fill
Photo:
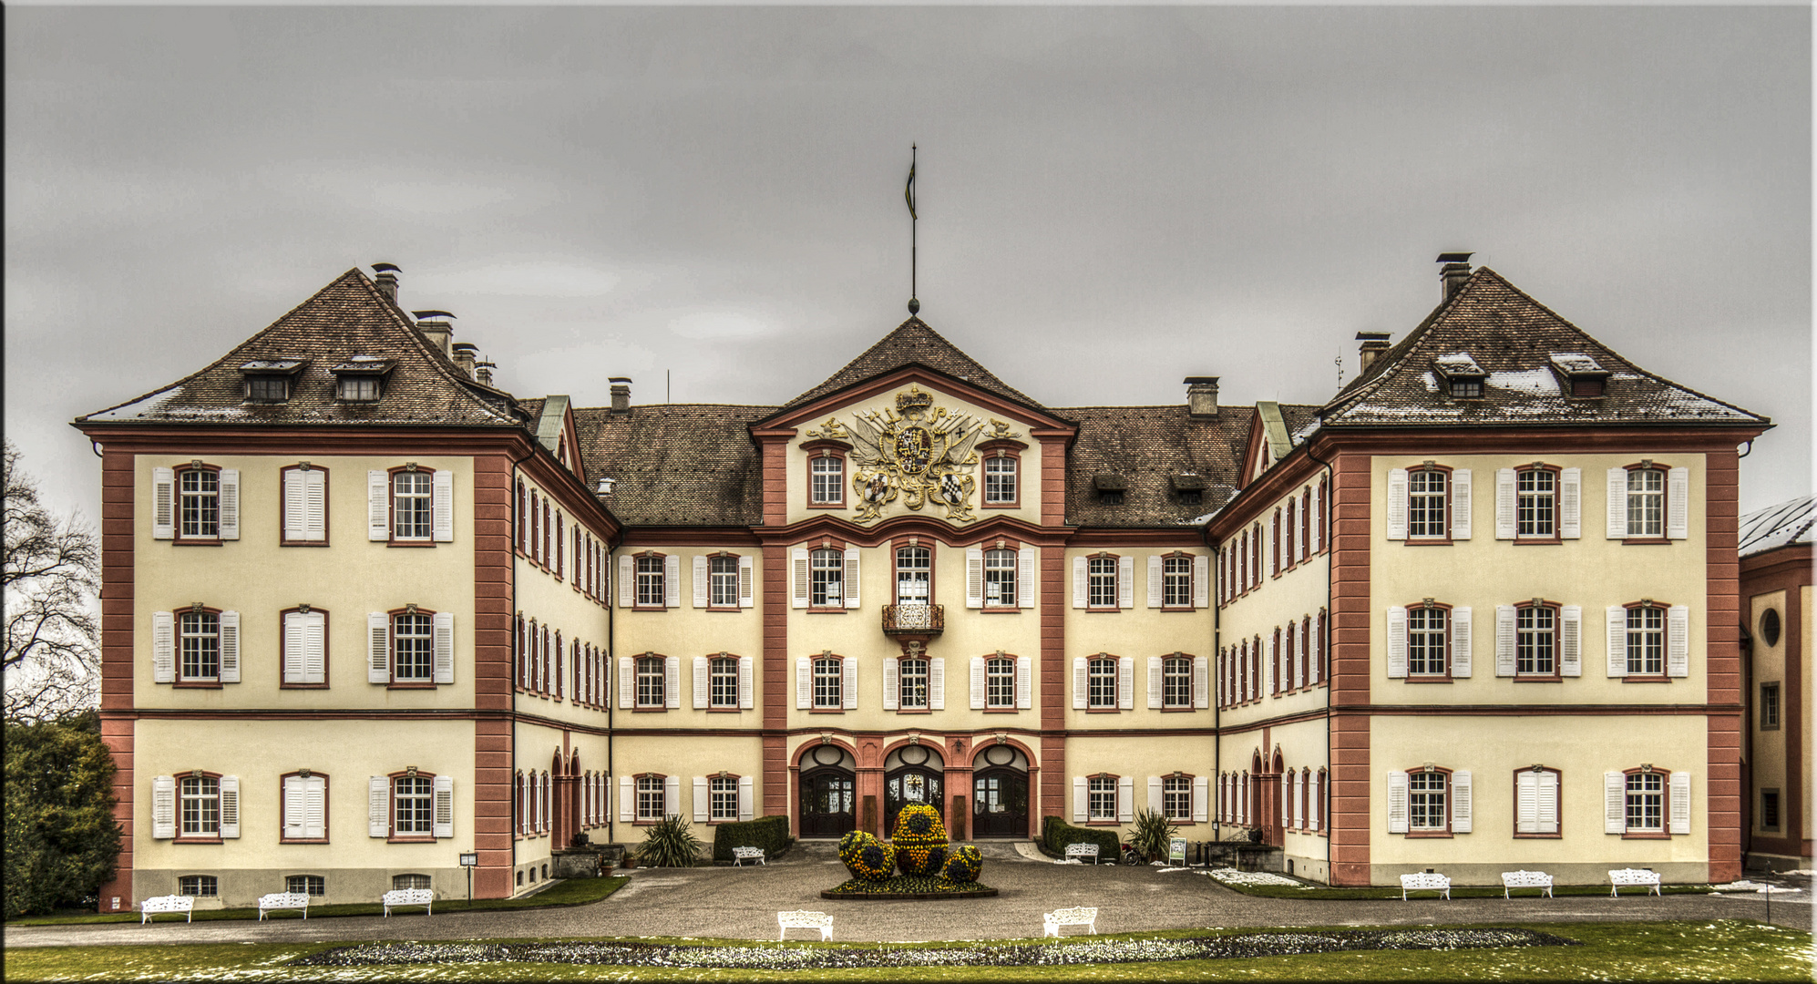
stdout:
POLYGON ((349 271, 74 421, 102 908, 460 895, 462 853, 509 897, 665 815, 905 802, 958 841, 1152 808, 1330 884, 1739 877, 1772 425, 1441 260, 1328 403, 1254 407, 1047 407, 919 318, 778 405, 574 407, 349 271))

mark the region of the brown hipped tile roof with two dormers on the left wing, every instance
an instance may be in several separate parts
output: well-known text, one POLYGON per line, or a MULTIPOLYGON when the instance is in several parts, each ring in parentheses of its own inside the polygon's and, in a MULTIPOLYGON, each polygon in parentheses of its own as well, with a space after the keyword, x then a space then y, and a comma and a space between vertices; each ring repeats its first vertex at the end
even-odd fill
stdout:
POLYGON ((91 423, 520 427, 509 394, 482 387, 432 345, 358 269, 347 271, 209 367, 91 423), (376 403, 334 398, 333 367, 360 356, 396 359, 376 403), (305 359, 283 403, 247 403, 249 363, 305 359))

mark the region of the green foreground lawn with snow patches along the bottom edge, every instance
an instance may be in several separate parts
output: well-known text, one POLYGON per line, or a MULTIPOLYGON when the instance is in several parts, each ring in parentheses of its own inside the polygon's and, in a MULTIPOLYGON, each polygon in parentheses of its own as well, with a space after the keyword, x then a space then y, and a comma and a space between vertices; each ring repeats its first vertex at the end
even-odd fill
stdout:
MULTIPOLYGON (((1483 928, 1483 926, 1477 926, 1483 928)), ((1397 928, 1408 930, 1408 928, 1397 928)), ((1466 930, 1466 928, 1437 928, 1466 930)), ((905 966, 890 969, 703 969, 703 968, 614 968, 563 962, 469 962, 469 964, 383 964, 356 968, 287 966, 300 957, 333 950, 318 944, 193 944, 193 946, 76 946, 25 948, 5 951, 11 980, 396 980, 434 977, 438 980, 592 980, 600 977, 636 980, 1810 980, 1812 933, 1762 926, 1748 920, 1717 922, 1568 922, 1523 924, 1564 937, 1575 946, 1519 946, 1492 950, 1368 950, 1343 953, 1303 953, 1288 957, 1159 960, 1070 966, 905 966)), ((1355 931, 1334 928, 1330 931, 1355 931)), ((1265 931, 1276 933, 1276 931, 1265 931)), ((1312 933, 1285 930, 1279 933, 1312 933)), ((1165 951, 1168 940, 1217 935, 1256 937, 1256 930, 1176 930, 1163 933, 1117 933, 1090 939, 1047 942, 1059 948, 1092 948, 1114 940, 1154 940, 1165 951)), ((445 946, 485 944, 462 940, 445 946)), ((538 940, 496 940, 534 944, 538 940)), ((543 940, 561 942, 561 940, 543 940)), ((591 940, 598 942, 598 940, 591 940)), ((885 951, 976 951, 1005 946, 1043 946, 1036 940, 974 944, 752 944, 750 940, 621 940, 647 946, 727 946, 741 955, 781 951, 845 950, 885 951)))

